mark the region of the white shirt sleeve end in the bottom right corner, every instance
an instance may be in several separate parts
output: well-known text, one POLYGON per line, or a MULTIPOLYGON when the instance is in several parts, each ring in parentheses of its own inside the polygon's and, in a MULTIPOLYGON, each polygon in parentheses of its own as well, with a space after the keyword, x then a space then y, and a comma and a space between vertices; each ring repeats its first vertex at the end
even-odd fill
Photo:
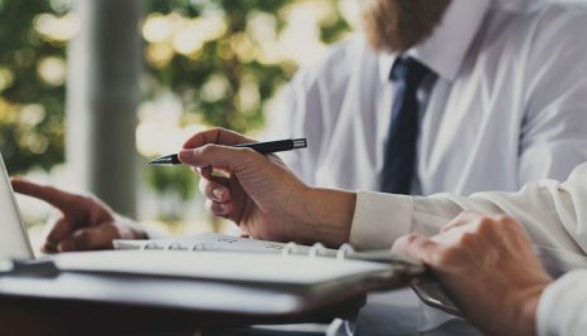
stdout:
POLYGON ((587 330, 587 270, 571 271, 546 287, 538 303, 538 336, 579 336, 587 330))

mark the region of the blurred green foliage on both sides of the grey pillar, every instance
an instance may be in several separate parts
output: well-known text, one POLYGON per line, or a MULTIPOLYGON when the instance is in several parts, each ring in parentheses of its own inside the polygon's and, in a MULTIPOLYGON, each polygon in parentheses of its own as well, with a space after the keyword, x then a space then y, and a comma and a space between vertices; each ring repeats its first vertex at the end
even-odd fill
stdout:
MULTIPOLYGON (((11 174, 35 167, 49 170, 63 162, 66 44, 77 29, 75 18, 68 19, 71 1, 0 0, 0 150, 11 174), (72 31, 62 31, 68 25, 72 31)), ((252 36, 251 22, 263 19, 273 30, 269 35, 278 36, 286 26, 288 6, 304 1, 312 0, 145 1, 143 35, 149 18, 167 19, 176 30, 177 25, 189 29, 195 24, 202 31, 210 25, 217 28, 191 49, 191 36, 183 41, 187 49, 180 45, 180 50, 171 38, 146 39, 143 99, 173 92, 183 106, 182 125, 214 125, 241 133, 261 128, 264 104, 297 65, 287 57, 259 57, 262 41, 252 36), (198 23, 198 18, 204 21, 198 23)), ((319 1, 334 13, 320 23, 319 35, 323 42, 335 42, 348 31, 348 23, 337 0, 319 1)), ((154 35, 160 33, 157 29, 154 35)), ((200 30, 193 31, 197 38, 200 30)), ((146 175, 159 194, 174 191, 187 200, 196 189, 190 169, 147 168, 146 175)))

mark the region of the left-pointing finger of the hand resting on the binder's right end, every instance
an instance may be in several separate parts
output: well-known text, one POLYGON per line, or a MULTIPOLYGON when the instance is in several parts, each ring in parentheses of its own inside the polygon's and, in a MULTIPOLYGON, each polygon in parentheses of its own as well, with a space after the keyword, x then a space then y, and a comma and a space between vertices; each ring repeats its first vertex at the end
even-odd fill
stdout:
POLYGON ((431 240, 429 237, 419 233, 400 237, 393 244, 393 252, 404 254, 415 260, 421 260, 426 264, 436 264, 436 259, 440 253, 441 246, 431 240))

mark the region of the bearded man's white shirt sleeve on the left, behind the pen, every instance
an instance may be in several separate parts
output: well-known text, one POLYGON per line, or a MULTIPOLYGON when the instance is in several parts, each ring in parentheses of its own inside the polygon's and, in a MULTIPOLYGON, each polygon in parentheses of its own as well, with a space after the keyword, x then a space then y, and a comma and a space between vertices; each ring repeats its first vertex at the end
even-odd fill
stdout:
POLYGON ((305 66, 281 91, 280 99, 267 114, 268 130, 263 138, 308 139, 308 148, 279 153, 285 164, 310 185, 330 148, 333 127, 339 120, 350 77, 348 65, 360 50, 360 35, 329 48, 318 62, 305 66))

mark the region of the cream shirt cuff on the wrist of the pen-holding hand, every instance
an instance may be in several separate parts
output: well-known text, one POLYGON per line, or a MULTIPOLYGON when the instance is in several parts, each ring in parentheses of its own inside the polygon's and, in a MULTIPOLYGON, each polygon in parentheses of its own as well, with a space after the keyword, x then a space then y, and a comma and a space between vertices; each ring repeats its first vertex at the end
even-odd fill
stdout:
POLYGON ((358 192, 350 228, 350 245, 357 250, 389 249, 411 230, 411 196, 358 192))

